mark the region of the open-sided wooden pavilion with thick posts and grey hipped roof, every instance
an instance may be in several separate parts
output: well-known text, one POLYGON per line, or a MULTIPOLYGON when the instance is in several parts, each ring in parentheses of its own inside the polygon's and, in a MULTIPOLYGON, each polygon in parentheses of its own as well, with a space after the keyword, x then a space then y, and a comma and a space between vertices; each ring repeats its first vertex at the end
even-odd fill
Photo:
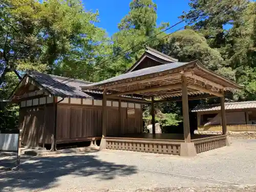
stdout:
MULTIPOLYGON (((101 149, 195 156, 197 153, 228 145, 224 92, 242 87, 206 69, 198 60, 178 62, 149 48, 125 74, 87 84, 81 88, 82 90, 103 92, 101 149), (148 53, 151 54, 148 56, 148 53), (153 134, 143 134, 142 131, 124 135, 118 134, 118 132, 115 135, 110 134, 111 130, 106 126, 108 121, 106 100, 121 98, 124 95, 131 97, 136 95, 143 99, 151 99, 153 134), (188 100, 206 97, 221 98, 223 135, 193 135, 191 137, 188 100), (155 133, 154 103, 166 100, 182 100, 184 135, 155 133)), ((131 112, 130 115, 132 114, 131 112)))

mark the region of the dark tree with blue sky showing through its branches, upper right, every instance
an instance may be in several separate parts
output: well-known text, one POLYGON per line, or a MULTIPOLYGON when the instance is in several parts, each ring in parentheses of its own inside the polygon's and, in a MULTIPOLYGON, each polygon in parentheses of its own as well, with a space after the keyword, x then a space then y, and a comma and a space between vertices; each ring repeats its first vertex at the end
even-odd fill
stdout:
POLYGON ((229 26, 239 19, 246 9, 248 0, 191 0, 190 11, 180 16, 187 24, 204 34, 212 48, 221 48, 226 44, 226 32, 229 26))

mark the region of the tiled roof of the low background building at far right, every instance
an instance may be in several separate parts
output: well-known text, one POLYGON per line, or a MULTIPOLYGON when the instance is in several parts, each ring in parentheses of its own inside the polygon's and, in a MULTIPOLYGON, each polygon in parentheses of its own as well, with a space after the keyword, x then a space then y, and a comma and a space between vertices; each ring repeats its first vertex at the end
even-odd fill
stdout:
MULTIPOLYGON (((256 108, 256 101, 226 102, 225 110, 256 108)), ((220 111, 220 104, 204 104, 196 106, 191 112, 220 111)))

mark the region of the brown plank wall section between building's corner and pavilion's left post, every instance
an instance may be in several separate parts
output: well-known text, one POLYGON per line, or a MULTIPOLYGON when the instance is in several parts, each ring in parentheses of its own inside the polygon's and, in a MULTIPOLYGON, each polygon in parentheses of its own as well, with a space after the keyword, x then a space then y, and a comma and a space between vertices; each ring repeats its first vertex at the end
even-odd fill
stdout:
POLYGON ((57 106, 57 143, 101 136, 102 109, 92 106, 57 106))

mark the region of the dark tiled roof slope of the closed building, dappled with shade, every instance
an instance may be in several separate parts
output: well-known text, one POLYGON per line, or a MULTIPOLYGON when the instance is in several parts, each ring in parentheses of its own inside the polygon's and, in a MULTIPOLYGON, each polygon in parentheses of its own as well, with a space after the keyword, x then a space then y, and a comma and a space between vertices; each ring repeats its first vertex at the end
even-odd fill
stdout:
POLYGON ((42 87, 48 90, 54 96, 75 97, 75 98, 93 98, 92 94, 101 94, 97 91, 82 91, 81 86, 90 84, 89 81, 59 77, 45 73, 32 71, 27 74, 42 87))

